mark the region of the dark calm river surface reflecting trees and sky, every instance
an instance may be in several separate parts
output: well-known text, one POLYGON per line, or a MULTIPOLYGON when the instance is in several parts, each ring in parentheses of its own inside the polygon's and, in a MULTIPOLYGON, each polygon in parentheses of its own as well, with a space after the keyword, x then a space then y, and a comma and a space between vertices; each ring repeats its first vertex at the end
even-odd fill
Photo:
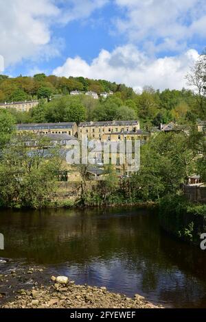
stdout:
POLYGON ((166 306, 206 308, 206 251, 162 232, 155 212, 1 210, 0 232, 1 257, 166 306))

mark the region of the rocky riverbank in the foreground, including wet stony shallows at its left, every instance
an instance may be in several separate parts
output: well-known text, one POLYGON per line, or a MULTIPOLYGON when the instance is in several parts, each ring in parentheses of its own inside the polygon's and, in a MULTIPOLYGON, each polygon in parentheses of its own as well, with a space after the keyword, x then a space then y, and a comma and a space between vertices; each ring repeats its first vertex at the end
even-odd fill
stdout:
POLYGON ((45 279, 44 269, 12 269, 0 275, 1 308, 157 308, 144 297, 108 292, 105 287, 76 285, 68 277, 45 279), (30 283, 27 283, 28 282, 30 283), (24 283, 24 284, 23 284, 24 283), (25 286, 22 288, 22 286, 25 286))

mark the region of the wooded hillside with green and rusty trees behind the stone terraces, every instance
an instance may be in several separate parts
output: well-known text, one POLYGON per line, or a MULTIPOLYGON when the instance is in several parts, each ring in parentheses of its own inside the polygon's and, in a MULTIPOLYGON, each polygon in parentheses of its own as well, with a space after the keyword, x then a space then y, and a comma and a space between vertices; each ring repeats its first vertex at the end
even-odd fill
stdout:
POLYGON ((37 74, 34 77, 10 78, 0 75, 0 101, 25 101, 40 99, 37 108, 30 112, 11 111, 17 123, 60 121, 112 121, 113 119, 140 119, 146 126, 176 121, 192 122, 201 118, 196 95, 191 90, 169 90, 163 92, 146 86, 142 93, 124 84, 84 77, 56 77, 37 74), (100 100, 79 95, 71 97, 72 90, 82 92, 112 91, 113 95, 100 100), (45 100, 52 97, 52 101, 45 100), (54 99, 54 97, 58 97, 54 99))

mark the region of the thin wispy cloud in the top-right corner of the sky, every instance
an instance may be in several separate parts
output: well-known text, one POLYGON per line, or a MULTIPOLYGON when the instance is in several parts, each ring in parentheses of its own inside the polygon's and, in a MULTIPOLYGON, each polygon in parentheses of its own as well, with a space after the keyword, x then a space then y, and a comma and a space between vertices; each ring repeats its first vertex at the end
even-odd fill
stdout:
MULTIPOLYGON (((206 38, 205 0, 115 0, 124 9, 115 23, 144 50, 182 51, 194 36, 206 38), (153 47, 151 47, 151 44, 153 47)), ((196 41, 196 39, 195 39, 196 41)))

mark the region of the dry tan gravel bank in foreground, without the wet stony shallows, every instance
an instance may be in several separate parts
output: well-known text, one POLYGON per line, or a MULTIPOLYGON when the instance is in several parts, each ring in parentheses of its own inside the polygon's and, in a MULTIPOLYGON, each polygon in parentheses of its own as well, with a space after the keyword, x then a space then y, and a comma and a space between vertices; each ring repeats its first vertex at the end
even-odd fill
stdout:
POLYGON ((1 308, 157 308, 140 295, 131 299, 110 293, 104 287, 80 286, 72 281, 59 284, 54 277, 52 283, 51 286, 19 290, 19 295, 1 308))

